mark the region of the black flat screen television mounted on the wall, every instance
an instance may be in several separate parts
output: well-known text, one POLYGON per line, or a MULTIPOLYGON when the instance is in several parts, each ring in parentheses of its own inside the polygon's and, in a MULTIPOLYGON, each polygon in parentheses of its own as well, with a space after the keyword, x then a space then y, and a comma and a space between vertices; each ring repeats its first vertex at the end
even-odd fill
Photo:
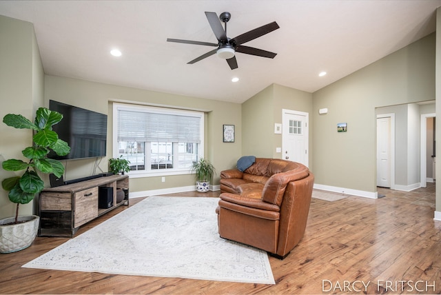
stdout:
POLYGON ((50 152, 51 159, 85 159, 105 156, 107 115, 85 110, 58 101, 49 101, 49 110, 63 114, 63 120, 52 126, 59 139, 67 142, 70 153, 58 156, 50 152))

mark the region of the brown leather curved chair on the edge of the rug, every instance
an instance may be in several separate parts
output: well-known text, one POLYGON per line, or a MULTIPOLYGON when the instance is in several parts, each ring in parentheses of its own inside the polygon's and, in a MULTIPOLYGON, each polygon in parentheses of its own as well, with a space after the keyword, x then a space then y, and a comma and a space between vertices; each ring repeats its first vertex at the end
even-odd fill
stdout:
POLYGON ((285 258, 305 233, 314 175, 300 163, 256 159, 256 163, 244 172, 227 170, 221 177, 224 187, 234 183, 238 186, 236 193, 223 190, 220 194, 216 209, 220 236, 285 258), (241 173, 246 176, 249 172, 254 175, 248 175, 247 179, 256 179, 256 174, 260 174, 257 178, 268 179, 264 185, 237 179, 241 173), (234 177, 230 182, 227 181, 229 176, 234 177))

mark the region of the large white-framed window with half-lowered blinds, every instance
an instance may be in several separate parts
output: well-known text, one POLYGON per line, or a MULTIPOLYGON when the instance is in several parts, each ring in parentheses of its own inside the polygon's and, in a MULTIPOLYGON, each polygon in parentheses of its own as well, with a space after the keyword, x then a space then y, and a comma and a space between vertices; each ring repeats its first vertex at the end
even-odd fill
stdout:
POLYGON ((131 176, 187 174, 203 157, 204 114, 114 103, 114 157, 131 176))

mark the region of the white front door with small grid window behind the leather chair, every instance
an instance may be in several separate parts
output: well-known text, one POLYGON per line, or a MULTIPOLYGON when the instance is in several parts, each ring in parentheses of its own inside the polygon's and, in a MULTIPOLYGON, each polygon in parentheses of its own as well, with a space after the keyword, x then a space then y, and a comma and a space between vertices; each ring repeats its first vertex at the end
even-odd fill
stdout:
POLYGON ((283 110, 282 119, 282 159, 308 166, 309 114, 283 110))

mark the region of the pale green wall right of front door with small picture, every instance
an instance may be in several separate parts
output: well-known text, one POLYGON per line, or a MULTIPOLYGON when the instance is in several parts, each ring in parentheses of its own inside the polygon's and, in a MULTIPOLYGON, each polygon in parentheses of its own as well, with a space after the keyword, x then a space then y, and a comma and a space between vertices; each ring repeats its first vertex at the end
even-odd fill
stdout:
POLYGON ((314 92, 316 183, 376 192, 375 109, 433 99, 435 34, 314 92), (337 123, 347 123, 347 132, 338 133, 337 123))

